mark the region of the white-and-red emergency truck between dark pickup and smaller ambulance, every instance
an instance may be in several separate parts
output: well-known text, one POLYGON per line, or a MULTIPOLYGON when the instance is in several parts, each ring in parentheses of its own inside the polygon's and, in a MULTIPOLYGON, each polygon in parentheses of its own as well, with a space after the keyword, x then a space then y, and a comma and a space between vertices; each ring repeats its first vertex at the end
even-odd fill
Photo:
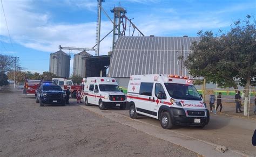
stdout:
POLYGON ((82 86, 74 85, 72 80, 66 78, 52 78, 52 80, 55 81, 56 84, 60 85, 63 90, 66 90, 69 87, 72 98, 76 98, 77 90, 82 90, 82 86))

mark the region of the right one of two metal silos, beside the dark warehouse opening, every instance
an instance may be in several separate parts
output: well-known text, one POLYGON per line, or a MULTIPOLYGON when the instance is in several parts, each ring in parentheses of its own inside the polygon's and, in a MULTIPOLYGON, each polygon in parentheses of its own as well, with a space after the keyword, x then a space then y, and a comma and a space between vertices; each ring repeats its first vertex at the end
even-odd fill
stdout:
POLYGON ((79 75, 81 77, 85 77, 86 60, 84 58, 89 56, 92 56, 92 55, 87 53, 86 51, 82 51, 74 55, 73 75, 79 75))

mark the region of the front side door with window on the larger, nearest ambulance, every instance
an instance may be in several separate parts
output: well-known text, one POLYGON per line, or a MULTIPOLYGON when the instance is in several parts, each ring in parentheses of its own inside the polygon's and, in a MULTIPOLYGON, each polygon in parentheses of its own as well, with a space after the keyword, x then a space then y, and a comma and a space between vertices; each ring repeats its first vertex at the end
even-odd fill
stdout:
POLYGON ((152 112, 157 112, 158 113, 158 110, 159 110, 160 106, 163 105, 164 102, 166 101, 166 94, 165 94, 163 85, 161 83, 157 82, 157 83, 154 84, 154 94, 153 94, 152 97, 154 97, 155 102, 151 103, 152 104, 151 105, 151 110, 152 110, 152 112), (162 99, 159 99, 157 97, 157 95, 159 93, 163 94, 163 98, 162 99))

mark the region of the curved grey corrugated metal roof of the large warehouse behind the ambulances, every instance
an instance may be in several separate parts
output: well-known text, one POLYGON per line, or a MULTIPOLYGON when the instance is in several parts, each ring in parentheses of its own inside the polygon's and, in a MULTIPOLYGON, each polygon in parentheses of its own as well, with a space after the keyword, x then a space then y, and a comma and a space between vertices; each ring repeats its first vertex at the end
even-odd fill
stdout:
MULTIPOLYGON (((198 37, 119 37, 111 63, 111 77, 130 77, 144 74, 180 74, 181 46, 184 60, 191 53, 192 42, 198 37)), ((183 60, 183 62, 184 62, 183 60)))

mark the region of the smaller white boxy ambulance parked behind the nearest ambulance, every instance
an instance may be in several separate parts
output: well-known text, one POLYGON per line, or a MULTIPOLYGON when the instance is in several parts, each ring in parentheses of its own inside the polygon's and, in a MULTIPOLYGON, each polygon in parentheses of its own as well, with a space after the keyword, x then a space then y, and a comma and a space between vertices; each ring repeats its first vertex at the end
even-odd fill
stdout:
POLYGON ((99 105, 100 110, 107 107, 119 106, 124 110, 126 107, 126 96, 119 89, 114 78, 111 77, 87 77, 83 79, 84 103, 99 105))

